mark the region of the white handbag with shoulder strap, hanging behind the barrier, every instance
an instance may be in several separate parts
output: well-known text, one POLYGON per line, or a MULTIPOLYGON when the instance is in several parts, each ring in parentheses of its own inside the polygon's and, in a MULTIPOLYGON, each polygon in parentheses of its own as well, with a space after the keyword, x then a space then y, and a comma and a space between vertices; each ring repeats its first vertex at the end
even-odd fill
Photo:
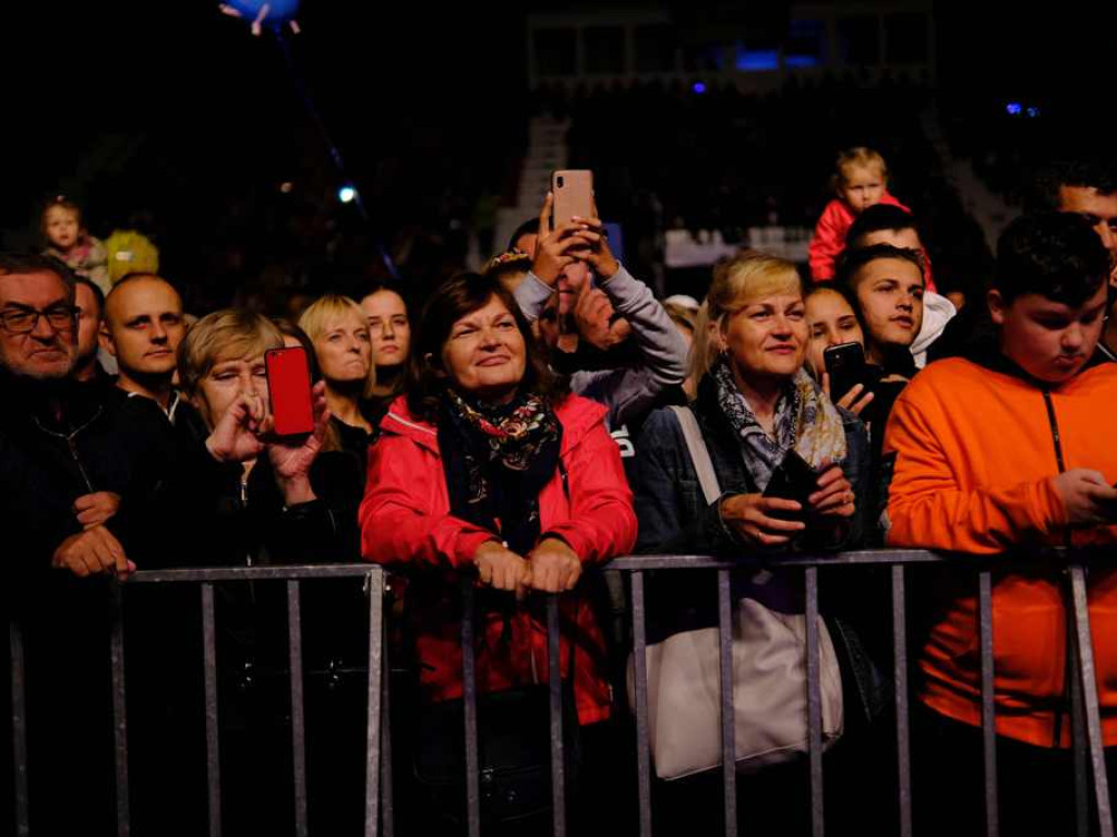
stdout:
MULTIPOLYGON (((717 474, 694 413, 671 407, 679 420, 707 504, 720 497, 717 474)), ((748 579, 748 594, 733 608, 733 698, 737 770, 787 761, 806 750, 806 618, 784 604, 789 579, 765 570, 748 579), (783 608, 777 609, 777 608, 783 608)), ((792 597, 793 598, 793 597, 792 597)), ((819 618, 822 740, 842 733, 838 656, 819 618)), ((660 779, 678 779, 722 764, 718 629, 686 631, 647 646, 651 756, 660 779)), ((629 704, 636 708, 636 666, 630 658, 629 704)))

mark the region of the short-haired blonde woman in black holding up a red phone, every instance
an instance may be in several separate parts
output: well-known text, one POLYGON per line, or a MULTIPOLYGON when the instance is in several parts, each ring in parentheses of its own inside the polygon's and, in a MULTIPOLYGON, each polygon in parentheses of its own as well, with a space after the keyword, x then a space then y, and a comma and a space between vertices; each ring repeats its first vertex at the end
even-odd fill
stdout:
MULTIPOLYGON (((270 320, 244 309, 202 317, 179 346, 182 391, 201 417, 200 426, 181 429, 179 444, 175 506, 184 525, 168 548, 182 550, 183 566, 355 558, 350 546, 356 541, 354 508, 346 519, 312 480, 312 471, 324 464, 330 422, 325 384, 312 391, 309 435, 281 439, 273 433, 271 404, 280 396, 270 391, 265 355, 283 346, 283 335, 270 320)), ((305 391, 295 395, 306 397, 305 391)), ((367 634, 341 627, 354 612, 353 599, 357 606, 364 600, 359 584, 343 587, 331 591, 328 609, 319 605, 313 584, 305 583, 302 590, 308 722, 318 730, 307 759, 311 772, 321 777, 312 788, 309 808, 331 811, 331 817, 360 801, 356 791, 346 793, 353 785, 350 777, 360 775, 363 754, 363 745, 346 744, 363 729, 349 696, 360 698, 363 690, 349 689, 344 681, 332 683, 322 674, 330 667, 326 654, 337 655, 337 635, 367 634)), ((290 710, 286 594, 281 586, 238 584, 218 587, 216 599, 221 758, 230 786, 222 810, 226 828, 281 831, 289 825, 293 801, 277 799, 276 791, 290 787, 289 747, 281 745, 290 710)), ((362 658, 356 652, 351 656, 362 658)))

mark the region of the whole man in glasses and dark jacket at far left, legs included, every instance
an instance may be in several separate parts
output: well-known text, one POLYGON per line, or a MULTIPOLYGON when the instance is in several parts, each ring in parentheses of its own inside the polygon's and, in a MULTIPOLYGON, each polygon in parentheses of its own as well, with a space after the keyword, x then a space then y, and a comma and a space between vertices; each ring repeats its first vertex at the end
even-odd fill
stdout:
POLYGON ((157 560, 170 462, 154 404, 124 414, 74 378, 77 331, 66 266, 0 254, 0 612, 26 636, 30 814, 44 834, 111 830, 104 578, 157 560))

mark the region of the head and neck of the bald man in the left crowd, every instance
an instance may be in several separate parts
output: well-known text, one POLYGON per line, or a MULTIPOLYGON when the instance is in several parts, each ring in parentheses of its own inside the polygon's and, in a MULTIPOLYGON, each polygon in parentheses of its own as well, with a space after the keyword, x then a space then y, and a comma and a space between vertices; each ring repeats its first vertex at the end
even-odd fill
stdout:
POLYGON ((182 298, 153 273, 126 276, 105 299, 101 345, 116 358, 116 386, 157 402, 172 421, 179 401, 175 358, 185 333, 182 298))

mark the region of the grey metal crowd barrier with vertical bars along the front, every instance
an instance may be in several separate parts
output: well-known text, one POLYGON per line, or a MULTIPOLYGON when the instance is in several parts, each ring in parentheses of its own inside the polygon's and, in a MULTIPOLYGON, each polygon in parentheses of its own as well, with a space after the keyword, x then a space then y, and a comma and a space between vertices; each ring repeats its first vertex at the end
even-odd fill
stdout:
MULTIPOLYGON (((1062 550, 1054 550, 1061 552, 1062 550)), ((1066 556, 1063 556, 1066 558, 1066 556)), ((1051 558, 1044 559, 1050 561, 1051 558)), ((781 567, 799 568, 803 573, 806 617, 806 682, 808 682, 808 761, 811 792, 811 829, 813 837, 822 837, 824 826, 823 772, 822 772, 822 702, 820 684, 820 646, 818 631, 819 578, 821 567, 889 566, 891 567, 892 596, 892 647, 896 701, 896 745, 898 759, 898 833, 901 837, 913 834, 911 775, 910 775, 910 728, 908 695, 908 648, 906 616, 906 569, 913 565, 951 561, 965 564, 965 556, 941 556, 923 550, 867 550, 820 556, 791 556, 781 558, 781 567)), ((968 559, 968 566, 976 561, 968 559)), ((651 756, 648 716, 648 672, 647 672, 647 609, 645 599, 645 574, 648 571, 715 570, 718 594, 718 620, 720 633, 720 682, 722 687, 722 777, 724 787, 725 834, 737 834, 736 811, 736 758, 734 734, 732 683, 732 595, 731 574, 742 566, 758 566, 748 558, 717 559, 709 556, 637 556, 612 561, 607 571, 619 571, 629 576, 631 590, 631 623, 634 651, 636 698, 637 698, 637 773, 639 827, 641 837, 652 834, 651 817, 651 756)), ((982 732, 984 742, 984 797, 985 830, 990 837, 999 833, 997 782, 996 782, 996 731, 994 725, 993 695, 993 624, 992 624, 992 575, 990 559, 984 558, 977 569, 978 624, 981 647, 981 694, 982 732)), ((997 564, 997 568, 1005 566, 997 564)), ((1070 578, 1071 600, 1069 604, 1068 644, 1072 671, 1072 740, 1076 775, 1076 815, 1079 834, 1085 834, 1089 820, 1088 782, 1097 808, 1098 830, 1102 837, 1113 837, 1113 816, 1109 788, 1105 770, 1098 693, 1095 681, 1094 653, 1090 641, 1089 613, 1087 609, 1086 571, 1081 564, 1066 564, 1070 578)), ((206 689, 206 739, 207 776, 209 801, 209 833, 211 837, 221 834, 221 786, 218 734, 218 696, 216 667, 216 628, 213 612, 213 585, 223 581, 280 581, 287 583, 288 650, 290 663, 292 705, 292 753, 294 764, 296 834, 307 834, 306 810, 306 761, 305 729, 303 718, 302 682, 302 617, 299 612, 299 581, 304 579, 365 577, 370 594, 369 615, 369 701, 367 701, 367 747, 365 761, 365 821, 366 837, 376 837, 382 827, 386 837, 392 837, 391 738, 389 730, 388 689, 384 672, 386 647, 383 632, 383 594, 385 575, 381 568, 365 565, 252 567, 229 569, 182 569, 165 571, 142 571, 134 574, 132 584, 199 584, 202 603, 202 633, 204 655, 206 689)), ((479 748, 477 735, 477 680, 475 654, 475 590, 469 580, 461 585, 462 598, 462 698, 465 709, 465 754, 466 754, 466 811, 469 837, 481 833, 481 802, 479 778, 479 748)), ((130 833, 130 806, 127 782, 127 718, 125 710, 124 677, 124 624, 120 585, 114 589, 114 619, 111 632, 112 687, 115 730, 116 761, 116 814, 117 834, 125 837, 130 833)), ((10 626, 11 653, 11 706, 15 764, 15 798, 17 834, 25 837, 31 833, 28 806, 27 775, 27 727, 25 702, 23 638, 20 626, 10 626)), ((547 644, 550 660, 551 694, 551 776, 553 799, 553 834, 566 834, 566 777, 563 753, 563 686, 560 663, 558 597, 547 597, 547 644)), ((34 782, 34 777, 30 781, 34 782)))

